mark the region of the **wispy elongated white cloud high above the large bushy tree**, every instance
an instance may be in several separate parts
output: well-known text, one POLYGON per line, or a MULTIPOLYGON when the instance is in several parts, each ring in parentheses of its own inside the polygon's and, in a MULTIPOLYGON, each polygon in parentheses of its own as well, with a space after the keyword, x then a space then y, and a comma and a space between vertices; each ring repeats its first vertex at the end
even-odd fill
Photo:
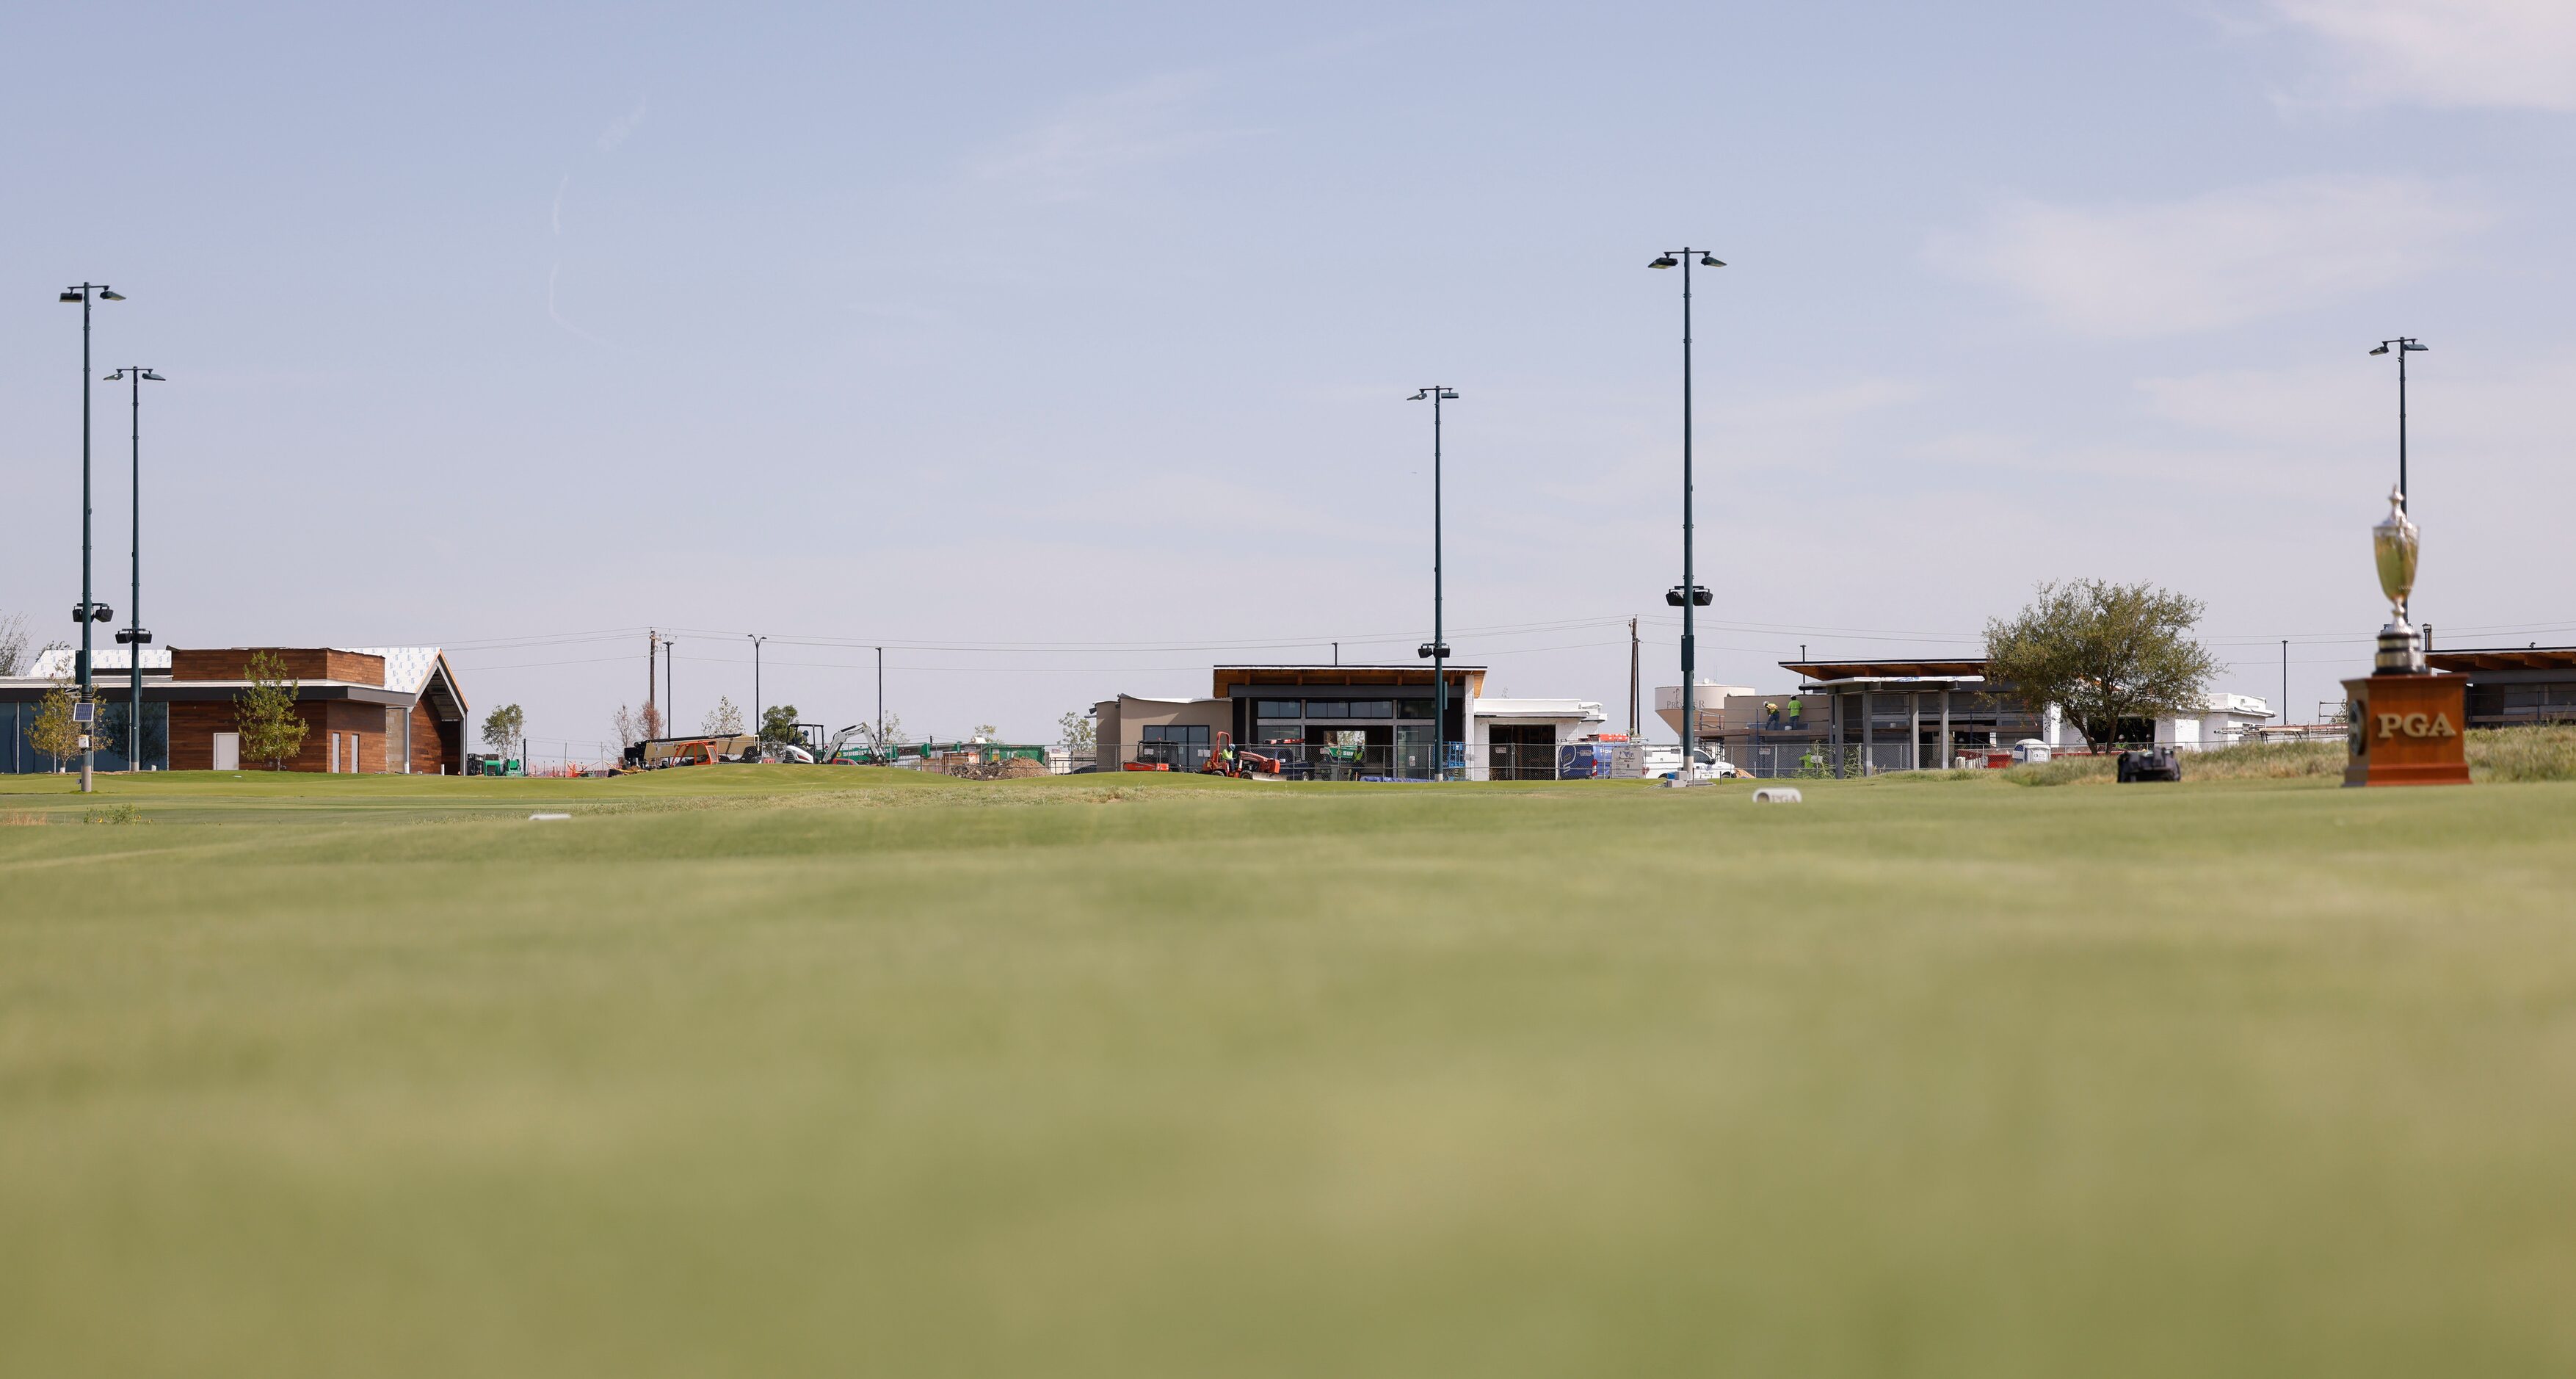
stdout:
POLYGON ((2419 178, 2293 178, 2146 206, 2012 201, 1937 265, 2084 335, 2179 335, 2414 278, 2494 214, 2419 178))

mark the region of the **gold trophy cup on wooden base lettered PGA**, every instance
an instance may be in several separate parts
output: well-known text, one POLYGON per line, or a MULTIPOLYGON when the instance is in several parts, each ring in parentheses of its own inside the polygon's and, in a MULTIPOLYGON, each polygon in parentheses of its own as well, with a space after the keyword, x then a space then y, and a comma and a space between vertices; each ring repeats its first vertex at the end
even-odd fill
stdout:
MULTIPOLYGON (((2388 626, 2367 680, 2344 680, 2349 714, 2347 786, 2465 786, 2468 675, 2424 665, 2424 637, 2406 624, 2424 534, 2406 518, 2406 497, 2388 492, 2388 521, 2370 528, 2370 554, 2388 595, 2388 626)), ((2282 706, 2287 709, 2287 704, 2282 706)))

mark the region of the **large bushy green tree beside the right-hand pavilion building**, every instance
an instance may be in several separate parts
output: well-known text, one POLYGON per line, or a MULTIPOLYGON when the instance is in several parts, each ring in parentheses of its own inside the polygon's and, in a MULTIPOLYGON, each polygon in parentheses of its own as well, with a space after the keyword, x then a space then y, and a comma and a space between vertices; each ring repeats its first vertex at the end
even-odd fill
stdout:
POLYGON ((2197 709, 2218 660, 2192 639, 2197 598, 2156 585, 2045 583, 2012 621, 1986 624, 1986 680, 2030 709, 2056 706, 2084 742, 2120 740, 2120 719, 2197 709))

